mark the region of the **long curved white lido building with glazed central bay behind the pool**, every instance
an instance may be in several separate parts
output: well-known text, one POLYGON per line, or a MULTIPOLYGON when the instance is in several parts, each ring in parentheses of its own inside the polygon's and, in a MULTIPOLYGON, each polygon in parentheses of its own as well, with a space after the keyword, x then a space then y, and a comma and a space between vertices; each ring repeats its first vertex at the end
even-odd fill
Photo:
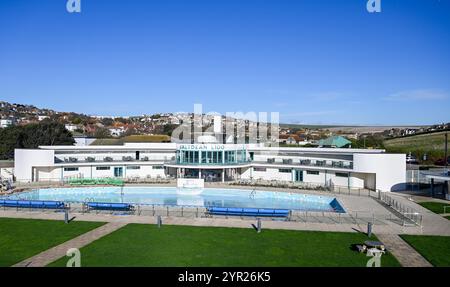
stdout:
POLYGON ((405 154, 377 149, 266 147, 263 144, 125 143, 15 150, 15 180, 200 178, 402 189, 405 154))

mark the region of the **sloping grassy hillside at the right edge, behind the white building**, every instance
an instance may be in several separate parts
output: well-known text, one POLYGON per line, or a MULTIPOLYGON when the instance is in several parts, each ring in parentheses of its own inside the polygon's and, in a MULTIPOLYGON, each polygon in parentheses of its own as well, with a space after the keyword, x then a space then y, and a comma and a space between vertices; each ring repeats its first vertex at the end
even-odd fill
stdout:
MULTIPOLYGON (((424 135, 396 138, 384 141, 384 146, 388 152, 409 153, 421 159, 426 153, 429 163, 433 163, 439 158, 444 158, 444 138, 445 132, 437 132, 424 135)), ((450 144, 450 137, 448 138, 450 144)))

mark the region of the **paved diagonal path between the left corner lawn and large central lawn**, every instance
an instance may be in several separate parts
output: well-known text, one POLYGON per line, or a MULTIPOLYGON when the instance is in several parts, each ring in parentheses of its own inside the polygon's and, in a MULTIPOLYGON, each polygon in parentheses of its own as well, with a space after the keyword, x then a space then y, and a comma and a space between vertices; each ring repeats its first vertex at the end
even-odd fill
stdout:
POLYGON ((123 222, 110 222, 103 226, 100 226, 94 230, 91 230, 85 234, 75 237, 72 240, 66 241, 58 246, 50 248, 44 252, 39 253, 31 258, 25 259, 22 262, 15 264, 13 267, 44 267, 48 264, 58 260, 59 258, 66 256, 67 250, 70 248, 80 249, 83 246, 97 240, 117 229, 125 226, 123 222))

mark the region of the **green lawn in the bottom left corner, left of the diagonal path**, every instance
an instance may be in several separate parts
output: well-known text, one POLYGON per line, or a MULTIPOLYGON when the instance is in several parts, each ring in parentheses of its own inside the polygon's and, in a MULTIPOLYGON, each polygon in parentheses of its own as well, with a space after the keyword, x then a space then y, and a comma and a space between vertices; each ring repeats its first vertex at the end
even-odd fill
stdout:
POLYGON ((102 224, 0 218, 0 266, 14 265, 102 224))

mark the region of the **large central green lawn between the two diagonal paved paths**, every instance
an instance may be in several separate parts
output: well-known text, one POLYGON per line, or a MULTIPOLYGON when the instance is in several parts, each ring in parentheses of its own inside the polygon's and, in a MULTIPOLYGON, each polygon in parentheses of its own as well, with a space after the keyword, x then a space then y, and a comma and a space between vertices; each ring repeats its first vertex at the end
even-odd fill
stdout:
MULTIPOLYGON (((368 257, 350 246, 365 240, 360 233, 129 224, 82 248, 81 265, 363 267, 368 257)), ((381 264, 399 266, 391 255, 381 264)))

